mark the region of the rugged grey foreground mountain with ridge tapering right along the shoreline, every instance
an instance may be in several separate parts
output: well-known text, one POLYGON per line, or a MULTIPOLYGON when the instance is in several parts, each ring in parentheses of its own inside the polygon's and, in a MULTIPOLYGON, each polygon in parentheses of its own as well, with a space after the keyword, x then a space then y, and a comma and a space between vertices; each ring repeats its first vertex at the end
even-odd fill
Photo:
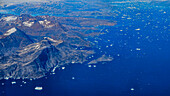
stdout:
POLYGON ((41 78, 56 66, 82 63, 93 51, 76 50, 61 40, 44 37, 0 58, 0 79, 41 78))

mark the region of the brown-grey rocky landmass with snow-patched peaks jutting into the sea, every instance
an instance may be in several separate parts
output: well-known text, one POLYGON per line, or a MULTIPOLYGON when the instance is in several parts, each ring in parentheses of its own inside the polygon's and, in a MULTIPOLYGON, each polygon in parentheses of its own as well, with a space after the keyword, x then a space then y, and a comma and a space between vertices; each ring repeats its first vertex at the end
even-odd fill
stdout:
MULTIPOLYGON (((103 34, 98 26, 113 25, 91 18, 0 14, 0 79, 36 79, 64 64, 84 63, 95 54, 85 38, 103 34)), ((88 64, 112 59, 103 55, 88 64)))

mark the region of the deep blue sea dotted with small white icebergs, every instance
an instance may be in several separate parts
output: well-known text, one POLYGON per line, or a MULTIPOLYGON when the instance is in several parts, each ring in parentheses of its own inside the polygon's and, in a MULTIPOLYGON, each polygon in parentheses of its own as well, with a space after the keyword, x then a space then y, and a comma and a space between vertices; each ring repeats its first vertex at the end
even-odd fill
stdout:
POLYGON ((169 8, 130 6, 139 9, 120 6, 119 16, 104 17, 116 20, 117 25, 102 27, 107 34, 90 39, 98 41, 95 55, 111 55, 112 62, 91 68, 66 65, 55 75, 24 80, 26 84, 2 80, 0 96, 170 96, 169 8), (43 90, 35 91, 35 86, 43 90))

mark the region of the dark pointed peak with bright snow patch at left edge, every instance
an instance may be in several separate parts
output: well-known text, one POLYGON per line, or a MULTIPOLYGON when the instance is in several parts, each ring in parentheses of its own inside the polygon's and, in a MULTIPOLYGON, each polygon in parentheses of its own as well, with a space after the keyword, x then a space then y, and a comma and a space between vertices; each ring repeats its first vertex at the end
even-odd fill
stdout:
POLYGON ((33 43, 33 40, 28 35, 18 28, 13 27, 0 36, 0 52, 21 49, 31 43, 33 43))

